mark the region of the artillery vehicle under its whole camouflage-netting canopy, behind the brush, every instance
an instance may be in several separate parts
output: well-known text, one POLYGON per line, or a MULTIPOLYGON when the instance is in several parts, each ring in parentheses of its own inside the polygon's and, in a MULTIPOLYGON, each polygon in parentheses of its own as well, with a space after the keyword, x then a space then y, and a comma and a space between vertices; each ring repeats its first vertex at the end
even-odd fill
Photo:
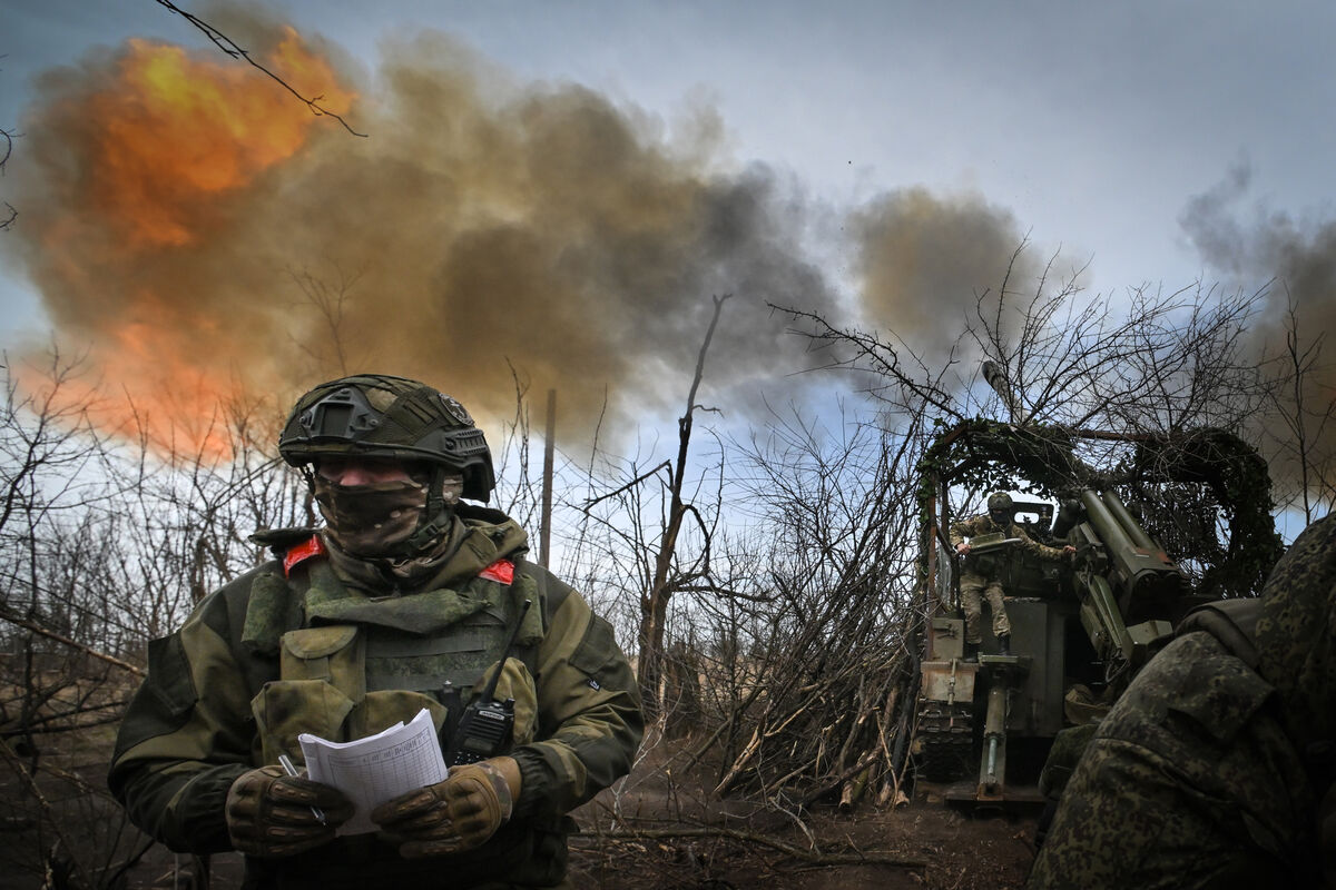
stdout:
POLYGON ((1098 721, 1190 607, 1255 595, 1280 555, 1265 464, 1222 431, 1133 436, 973 420, 938 436, 921 471, 927 618, 912 751, 921 787, 946 801, 1041 803, 1054 737, 1098 721), (1083 451, 1114 468, 1096 471, 1083 451), (998 654, 985 615, 978 659, 966 660, 949 530, 994 488, 1042 495, 1014 498, 1017 524, 1077 552, 1045 562, 1002 535, 973 539, 974 566, 1002 580, 1013 654, 998 654))

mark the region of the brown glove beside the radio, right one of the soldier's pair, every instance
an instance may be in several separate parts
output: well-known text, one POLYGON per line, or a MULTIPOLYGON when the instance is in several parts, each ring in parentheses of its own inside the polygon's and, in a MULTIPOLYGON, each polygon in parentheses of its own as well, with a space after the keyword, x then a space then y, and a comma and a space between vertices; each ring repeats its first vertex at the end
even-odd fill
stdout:
POLYGON ((452 766, 444 782, 371 810, 371 821, 406 859, 472 850, 496 834, 520 797, 520 765, 496 757, 452 766))

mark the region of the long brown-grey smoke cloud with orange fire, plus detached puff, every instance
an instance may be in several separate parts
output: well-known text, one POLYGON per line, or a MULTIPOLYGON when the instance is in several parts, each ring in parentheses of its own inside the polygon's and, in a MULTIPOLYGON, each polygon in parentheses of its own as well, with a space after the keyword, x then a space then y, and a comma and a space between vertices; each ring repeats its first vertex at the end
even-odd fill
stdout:
POLYGON ((736 416, 763 391, 799 399, 820 363, 768 306, 843 324, 860 296, 863 322, 931 352, 1019 242, 978 197, 888 195, 855 220, 860 291, 842 300, 808 247, 830 209, 732 168, 709 108, 667 125, 513 83, 444 35, 389 41, 371 73, 251 7, 210 15, 369 136, 212 49, 132 40, 44 77, 3 248, 88 351, 111 422, 188 432, 219 399, 281 414, 378 371, 490 423, 517 380, 536 404, 554 388, 568 444, 596 424, 616 440, 681 410, 715 295, 733 299, 700 400, 736 416))

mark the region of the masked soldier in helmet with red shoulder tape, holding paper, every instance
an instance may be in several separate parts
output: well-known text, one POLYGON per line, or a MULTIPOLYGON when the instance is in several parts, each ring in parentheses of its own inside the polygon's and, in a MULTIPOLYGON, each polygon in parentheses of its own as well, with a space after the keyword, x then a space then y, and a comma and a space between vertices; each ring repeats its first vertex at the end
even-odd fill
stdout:
POLYGON ((277 558, 150 644, 116 739, 116 798, 172 850, 244 853, 248 887, 561 885, 565 814, 629 770, 643 731, 612 627, 524 559, 512 519, 461 500, 486 502, 492 456, 437 390, 321 384, 279 454, 326 524, 258 534, 277 558), (374 834, 335 837, 347 799, 275 766, 301 758, 301 733, 355 739, 424 707, 449 750, 497 670, 512 738, 377 807, 374 834))

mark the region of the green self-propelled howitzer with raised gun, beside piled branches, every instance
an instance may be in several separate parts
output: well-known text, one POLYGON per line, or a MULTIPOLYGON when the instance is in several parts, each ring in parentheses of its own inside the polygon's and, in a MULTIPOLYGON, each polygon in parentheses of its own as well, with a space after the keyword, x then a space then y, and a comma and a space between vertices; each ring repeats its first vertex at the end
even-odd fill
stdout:
MULTIPOLYGON (((1182 479, 1128 484, 1125 475, 1116 484, 1073 456, 1083 436, 1114 439, 971 420, 942 434, 923 462, 921 590, 929 619, 912 750, 918 778, 946 799, 975 806, 1039 803, 1037 779, 1054 737, 1067 726, 1097 721, 1170 639, 1174 623, 1192 606, 1220 595, 1204 590, 1201 579, 1221 572, 1194 552, 1188 554, 1193 563, 1185 570, 1138 519, 1148 504, 1160 510, 1157 516, 1193 514, 1200 504, 1168 500, 1188 496, 1182 479), (981 652, 969 660, 958 582, 965 567, 949 540, 961 516, 953 515, 950 503, 963 500, 962 492, 995 484, 994 479, 1011 480, 1014 490, 1050 492, 1042 500, 1015 498, 1018 524, 1034 540, 1070 544, 1075 554, 1050 560, 1009 544, 1005 535, 971 540, 973 570, 986 566, 1006 592, 1013 654, 999 652, 983 622, 981 652), (1120 487, 1138 495, 1136 511, 1120 487), (1149 499, 1161 491, 1162 503, 1149 499), (1061 504, 1057 516, 1054 500, 1061 504)), ((1142 448, 1134 436, 1121 439, 1129 450, 1142 448)), ((1157 463, 1164 466, 1168 462, 1157 463)), ((1224 504, 1213 515, 1242 514, 1236 504, 1224 504)), ((1248 540, 1236 530, 1229 554, 1244 559, 1249 547, 1272 546, 1269 538, 1248 540)))

